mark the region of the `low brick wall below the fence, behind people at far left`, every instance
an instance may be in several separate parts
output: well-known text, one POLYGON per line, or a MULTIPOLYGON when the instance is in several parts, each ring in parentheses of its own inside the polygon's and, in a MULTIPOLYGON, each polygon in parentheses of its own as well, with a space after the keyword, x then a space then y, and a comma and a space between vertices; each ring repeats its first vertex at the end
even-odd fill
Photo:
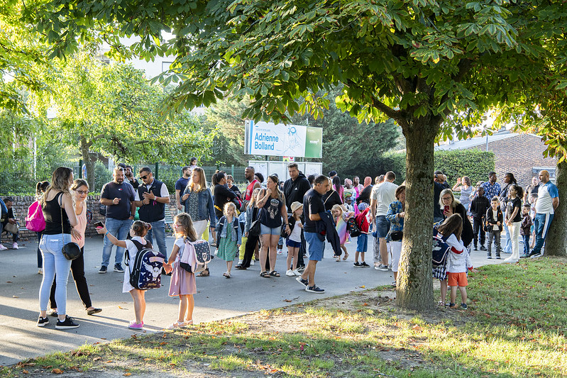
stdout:
MULTIPOLYGON (((16 217, 18 222, 20 223, 20 227, 26 227, 26 221, 24 220, 28 215, 28 207, 35 201, 34 196, 12 196, 13 198, 13 215, 16 217)), ((94 229, 93 223, 101 221, 104 223, 104 216, 99 214, 99 201, 100 201, 100 194, 96 196, 88 196, 85 200, 87 204, 87 209, 92 211, 92 222, 87 225, 87 230, 85 231, 85 235, 87 237, 92 237, 97 235, 97 230, 94 229)), ((170 214, 175 215, 177 213, 177 209, 175 209, 175 194, 170 194, 170 203, 167 205, 170 209, 170 214)), ((167 208, 166 208, 167 211, 167 208)), ((166 231, 167 231, 166 225, 166 231)), ((28 240, 37 238, 36 234, 30 230, 23 230, 20 231, 20 239, 21 240, 28 240)), ((11 234, 4 233, 2 234, 2 243, 11 243, 12 236, 11 234)))

